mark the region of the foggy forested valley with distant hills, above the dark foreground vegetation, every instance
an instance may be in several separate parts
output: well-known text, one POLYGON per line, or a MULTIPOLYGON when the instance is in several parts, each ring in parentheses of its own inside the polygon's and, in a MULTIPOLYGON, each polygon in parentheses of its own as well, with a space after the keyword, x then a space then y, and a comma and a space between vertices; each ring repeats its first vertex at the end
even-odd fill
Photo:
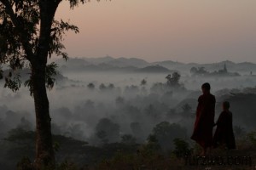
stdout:
MULTIPOLYGON (((221 102, 229 100, 236 135, 255 130, 256 65, 253 63, 183 64, 171 60, 150 63, 110 56, 70 58, 67 62, 55 59, 55 63, 60 73, 48 92, 54 134, 94 146, 120 142, 122 136, 130 135, 136 143, 143 144, 149 134, 155 133, 155 126, 168 122, 166 127, 172 125, 172 134, 166 139, 168 144, 160 139, 162 148, 173 149, 175 138, 193 144, 189 137, 203 82, 211 83, 212 94, 217 98, 215 119, 221 111, 221 102)), ((24 80, 28 73, 20 72, 24 80)), ((1 138, 6 138, 16 127, 34 130, 34 108, 28 88, 20 88, 16 93, 1 88, 0 93, 1 138)), ((2 143, 8 145, 6 141, 2 143)))

